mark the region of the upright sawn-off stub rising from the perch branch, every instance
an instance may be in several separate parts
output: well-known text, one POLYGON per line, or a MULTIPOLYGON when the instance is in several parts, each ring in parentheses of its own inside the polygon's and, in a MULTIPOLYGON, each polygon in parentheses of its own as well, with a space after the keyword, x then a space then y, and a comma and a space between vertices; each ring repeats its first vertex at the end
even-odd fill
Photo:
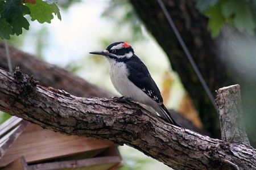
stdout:
POLYGON ((250 145, 243 123, 240 85, 218 89, 216 105, 220 116, 222 140, 250 145))

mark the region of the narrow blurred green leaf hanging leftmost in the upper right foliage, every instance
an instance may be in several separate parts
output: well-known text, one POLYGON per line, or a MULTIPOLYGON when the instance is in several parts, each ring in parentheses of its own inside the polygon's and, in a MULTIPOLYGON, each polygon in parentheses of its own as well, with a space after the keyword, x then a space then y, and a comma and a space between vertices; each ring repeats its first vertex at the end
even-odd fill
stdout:
POLYGON ((209 17, 208 28, 212 37, 217 37, 220 34, 221 28, 224 26, 224 19, 221 15, 221 3, 212 6, 205 12, 205 15, 209 17))

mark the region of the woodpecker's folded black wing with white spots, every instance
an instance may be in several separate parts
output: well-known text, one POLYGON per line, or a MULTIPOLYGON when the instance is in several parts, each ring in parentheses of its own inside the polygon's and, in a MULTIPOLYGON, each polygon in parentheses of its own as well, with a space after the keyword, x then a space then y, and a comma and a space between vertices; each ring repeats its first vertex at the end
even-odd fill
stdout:
POLYGON ((131 57, 126 61, 127 69, 130 75, 128 79, 139 87, 145 94, 155 100, 159 105, 163 104, 163 98, 160 94, 158 86, 156 86, 154 80, 151 78, 147 67, 137 56, 131 57))

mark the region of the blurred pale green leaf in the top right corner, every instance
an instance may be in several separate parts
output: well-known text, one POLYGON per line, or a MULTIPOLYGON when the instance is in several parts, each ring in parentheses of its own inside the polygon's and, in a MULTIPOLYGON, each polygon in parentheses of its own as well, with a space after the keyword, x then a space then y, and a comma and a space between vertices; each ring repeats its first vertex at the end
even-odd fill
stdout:
POLYGON ((239 31, 253 35, 256 23, 248 4, 241 0, 229 0, 222 5, 221 11, 225 18, 233 18, 234 26, 239 31))

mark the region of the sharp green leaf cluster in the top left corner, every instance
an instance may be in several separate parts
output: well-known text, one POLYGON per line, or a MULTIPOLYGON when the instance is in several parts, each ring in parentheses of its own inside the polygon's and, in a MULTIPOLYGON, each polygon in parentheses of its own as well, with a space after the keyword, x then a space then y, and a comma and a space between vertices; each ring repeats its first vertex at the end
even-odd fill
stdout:
POLYGON ((31 20, 39 23, 51 23, 53 14, 61 20, 57 0, 0 0, 0 37, 10 39, 10 35, 22 34, 22 29, 29 29, 31 20))

